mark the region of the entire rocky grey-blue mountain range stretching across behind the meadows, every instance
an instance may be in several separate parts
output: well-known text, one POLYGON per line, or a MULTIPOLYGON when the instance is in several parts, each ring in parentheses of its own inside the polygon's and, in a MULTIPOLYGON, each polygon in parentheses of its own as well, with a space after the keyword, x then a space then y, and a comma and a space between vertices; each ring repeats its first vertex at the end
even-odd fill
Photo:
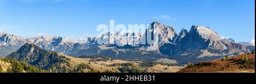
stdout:
POLYGON ((178 64, 214 60, 223 56, 248 53, 255 45, 242 45, 221 38, 209 27, 192 26, 191 30, 177 33, 171 26, 152 22, 146 33, 106 32, 105 37, 88 37, 86 40, 67 37, 20 37, 0 32, 0 56, 17 51, 26 43, 35 44, 47 51, 55 51, 68 56, 110 56, 126 60, 155 61, 160 58, 175 60, 178 64), (136 44, 147 37, 156 36, 152 44, 136 44), (123 38, 129 36, 129 38, 123 38), (108 41, 98 44, 98 40, 108 41))

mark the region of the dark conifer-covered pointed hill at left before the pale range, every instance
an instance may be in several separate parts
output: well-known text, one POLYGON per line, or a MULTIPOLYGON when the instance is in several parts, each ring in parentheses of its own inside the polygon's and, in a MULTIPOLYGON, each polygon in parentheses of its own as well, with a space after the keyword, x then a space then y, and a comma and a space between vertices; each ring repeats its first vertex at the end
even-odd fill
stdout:
POLYGON ((26 62, 51 72, 64 72, 63 66, 71 66, 69 65, 68 58, 28 43, 24 44, 18 51, 6 56, 6 58, 26 62))

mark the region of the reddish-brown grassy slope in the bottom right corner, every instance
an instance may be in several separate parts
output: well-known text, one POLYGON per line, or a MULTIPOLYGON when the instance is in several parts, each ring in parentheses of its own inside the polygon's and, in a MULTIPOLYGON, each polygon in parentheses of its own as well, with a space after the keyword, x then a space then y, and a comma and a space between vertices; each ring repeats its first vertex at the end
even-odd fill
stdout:
POLYGON ((255 72, 255 54, 242 54, 219 60, 188 64, 187 68, 179 71, 179 73, 189 72, 255 72))

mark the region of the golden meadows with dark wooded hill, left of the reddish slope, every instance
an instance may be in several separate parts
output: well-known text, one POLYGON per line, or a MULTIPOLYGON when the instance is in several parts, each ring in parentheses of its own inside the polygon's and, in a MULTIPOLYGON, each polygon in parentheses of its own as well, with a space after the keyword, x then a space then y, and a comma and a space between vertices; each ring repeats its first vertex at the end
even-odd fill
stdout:
MULTIPOLYGON (((51 73, 161 73, 176 72, 177 69, 183 68, 181 66, 179 68, 164 66, 160 63, 143 67, 141 66, 142 61, 118 60, 112 57, 71 57, 53 51, 46 51, 34 44, 24 44, 18 51, 3 59, 31 64, 51 73)), ((3 72, 7 72, 7 68, 12 68, 12 64, 9 62, 0 61, 0 64, 3 72)))

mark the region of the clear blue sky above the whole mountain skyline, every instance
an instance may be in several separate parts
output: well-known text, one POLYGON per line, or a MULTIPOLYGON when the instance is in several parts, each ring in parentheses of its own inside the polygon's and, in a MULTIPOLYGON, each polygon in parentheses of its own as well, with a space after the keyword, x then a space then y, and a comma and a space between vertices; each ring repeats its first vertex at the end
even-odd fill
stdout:
POLYGON ((0 30, 18 36, 96 36, 110 19, 158 20, 177 32, 202 25, 236 41, 255 38, 254 0, 0 0, 0 30))

